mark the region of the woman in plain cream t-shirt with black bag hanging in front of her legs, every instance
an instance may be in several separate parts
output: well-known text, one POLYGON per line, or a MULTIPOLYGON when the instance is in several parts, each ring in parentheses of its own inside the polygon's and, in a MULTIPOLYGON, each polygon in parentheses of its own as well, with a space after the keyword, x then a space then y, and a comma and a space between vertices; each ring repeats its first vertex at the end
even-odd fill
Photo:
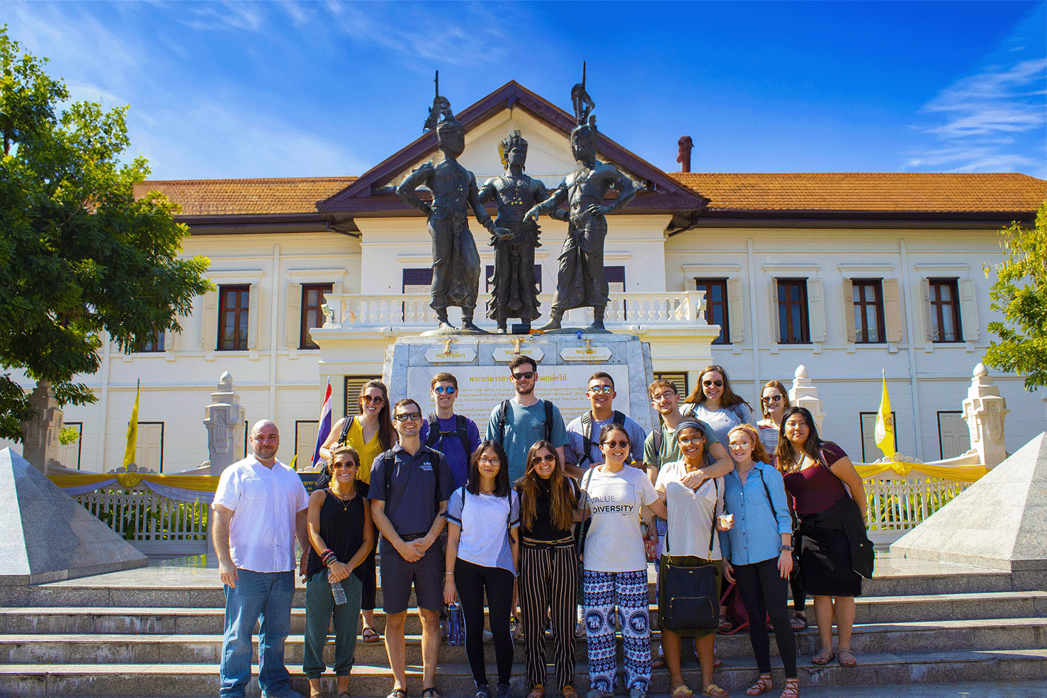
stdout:
MULTIPOLYGON (((721 569, 719 537, 713 536, 713 518, 723 512, 723 478, 705 478, 700 472, 705 464, 705 431, 694 419, 684 418, 676 426, 676 442, 683 460, 666 463, 658 474, 654 485, 660 497, 665 498, 668 509, 666 520, 669 533, 662 553, 661 573, 665 579, 666 566, 671 561, 677 567, 697 567, 707 561, 721 569), (711 540, 710 540, 711 539, 711 540), (710 550, 711 548, 711 550, 710 550)), ((720 530, 730 525, 719 526, 720 530)), ((714 698, 727 698, 727 691, 713 683, 713 646, 716 629, 667 630, 665 613, 669 599, 665 597, 665 584, 659 589, 659 623, 662 627, 662 651, 669 667, 672 698, 690 698, 694 692, 684 681, 680 667, 681 637, 693 637, 694 650, 701 667, 701 693, 714 698)))

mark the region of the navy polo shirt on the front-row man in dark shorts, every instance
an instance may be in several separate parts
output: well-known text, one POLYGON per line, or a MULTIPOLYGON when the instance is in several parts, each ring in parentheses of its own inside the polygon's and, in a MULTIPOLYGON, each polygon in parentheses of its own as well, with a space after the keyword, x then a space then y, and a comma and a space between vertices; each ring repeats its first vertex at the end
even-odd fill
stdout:
MULTIPOLYGON (((454 478, 450 464, 440 452, 424 443, 414 456, 397 443, 379 454, 371 466, 367 499, 385 502, 385 516, 401 537, 427 533, 440 514, 438 499, 446 502, 452 492, 454 478), (391 454, 393 473, 386 478, 385 461, 391 454), (385 490, 386 479, 388 492, 385 490)), ((393 544, 382 539, 382 551, 392 550, 393 544)))

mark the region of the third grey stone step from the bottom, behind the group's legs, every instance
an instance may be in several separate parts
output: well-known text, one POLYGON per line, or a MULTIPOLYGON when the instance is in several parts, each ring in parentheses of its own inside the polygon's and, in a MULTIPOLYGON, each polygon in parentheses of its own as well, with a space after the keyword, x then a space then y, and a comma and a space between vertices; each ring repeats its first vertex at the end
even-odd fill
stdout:
MULTIPOLYGON (((1047 592, 1007 591, 920 596, 861 596, 855 623, 903 623, 1047 616, 1047 592)), ((809 611, 808 611, 809 612, 809 611)), ((0 633, 187 633, 217 634, 223 630, 223 609, 157 607, 22 607, 0 608, 0 633)), ((814 613, 809 612, 814 618, 814 613)), ((656 609, 651 609, 656 626, 656 609)), ((375 612, 375 626, 385 616, 375 612)), ((291 611, 291 632, 305 630, 305 610, 291 611)), ((408 612, 407 634, 421 633, 421 621, 408 612)))

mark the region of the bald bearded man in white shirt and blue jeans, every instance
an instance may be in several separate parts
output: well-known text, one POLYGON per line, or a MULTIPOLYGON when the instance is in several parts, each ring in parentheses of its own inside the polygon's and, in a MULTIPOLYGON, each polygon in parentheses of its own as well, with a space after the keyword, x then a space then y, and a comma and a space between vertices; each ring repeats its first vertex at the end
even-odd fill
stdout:
POLYGON ((280 432, 263 419, 250 434, 252 456, 222 473, 211 508, 211 540, 225 585, 221 698, 242 698, 251 679, 251 634, 259 629, 263 698, 302 698, 284 666, 291 630, 294 570, 305 573, 309 496, 298 474, 276 460, 280 432), (303 553, 295 557, 294 539, 303 553))

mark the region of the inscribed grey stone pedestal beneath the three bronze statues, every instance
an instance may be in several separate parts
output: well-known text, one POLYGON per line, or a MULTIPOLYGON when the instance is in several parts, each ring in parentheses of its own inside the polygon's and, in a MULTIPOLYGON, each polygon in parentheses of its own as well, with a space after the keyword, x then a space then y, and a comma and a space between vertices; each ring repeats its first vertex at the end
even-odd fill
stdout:
POLYGON ((454 334, 399 337, 386 349, 382 379, 396 402, 413 397, 422 412, 432 410, 429 385, 437 373, 459 383, 454 411, 473 419, 480 433, 495 405, 512 397, 509 363, 518 355, 537 363, 535 395, 551 399, 570 421, 589 409, 588 377, 604 371, 615 380, 615 408, 647 431, 658 423, 647 397, 652 380, 650 345, 632 334, 454 334))

